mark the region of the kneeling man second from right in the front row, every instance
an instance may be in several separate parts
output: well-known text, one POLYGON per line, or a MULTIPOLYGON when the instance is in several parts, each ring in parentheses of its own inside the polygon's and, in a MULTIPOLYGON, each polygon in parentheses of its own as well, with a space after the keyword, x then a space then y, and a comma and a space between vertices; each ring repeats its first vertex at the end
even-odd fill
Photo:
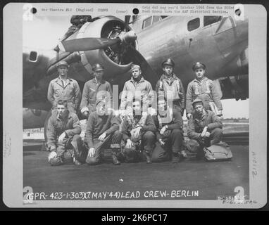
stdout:
POLYGON ((161 162, 168 159, 172 148, 172 162, 180 160, 179 153, 182 151, 183 120, 180 112, 176 108, 168 107, 165 98, 158 98, 158 115, 154 115, 154 122, 157 128, 157 141, 152 154, 153 162, 161 162), (161 148, 160 148, 161 147, 161 148))

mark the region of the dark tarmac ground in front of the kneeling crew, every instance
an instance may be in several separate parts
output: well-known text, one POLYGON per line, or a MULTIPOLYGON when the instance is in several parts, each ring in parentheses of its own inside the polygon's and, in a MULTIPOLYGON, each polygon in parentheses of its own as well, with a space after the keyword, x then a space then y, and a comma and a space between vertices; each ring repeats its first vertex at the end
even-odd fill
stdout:
MULTIPOLYGON (((242 186, 248 199, 249 143, 229 141, 233 158, 225 162, 205 162, 189 155, 177 164, 138 162, 115 166, 104 162, 51 167, 48 152, 40 150, 40 140, 32 140, 32 145, 28 140, 23 147, 23 186, 48 196, 87 192, 91 200, 216 200, 218 196, 234 196, 234 188, 242 186)), ((70 196, 61 199, 72 199, 70 196)))

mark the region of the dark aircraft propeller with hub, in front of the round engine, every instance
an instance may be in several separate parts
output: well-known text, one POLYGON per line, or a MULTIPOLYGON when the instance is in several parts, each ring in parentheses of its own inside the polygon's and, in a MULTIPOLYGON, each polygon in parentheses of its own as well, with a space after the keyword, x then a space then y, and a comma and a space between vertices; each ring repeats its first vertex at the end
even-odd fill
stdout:
POLYGON ((69 37, 61 41, 59 48, 62 51, 91 51, 94 49, 104 49, 108 57, 118 63, 119 65, 129 64, 130 62, 140 65, 143 71, 143 77, 147 79, 153 86, 156 85, 156 72, 152 70, 149 63, 146 62, 144 57, 133 46, 134 41, 137 39, 137 34, 133 30, 128 31, 130 16, 125 16, 124 30, 118 35, 111 35, 108 38, 104 37, 85 37, 76 38, 69 37))

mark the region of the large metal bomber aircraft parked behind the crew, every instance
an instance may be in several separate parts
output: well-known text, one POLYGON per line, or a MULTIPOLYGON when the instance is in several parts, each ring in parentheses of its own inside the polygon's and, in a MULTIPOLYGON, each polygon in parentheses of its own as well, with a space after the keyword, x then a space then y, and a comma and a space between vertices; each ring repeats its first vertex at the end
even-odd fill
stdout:
MULTIPOLYGON (((100 16, 86 22, 77 32, 62 40, 58 50, 23 48, 23 128, 44 127, 51 109, 46 99, 49 82, 58 77, 56 64, 70 65, 68 76, 76 79, 82 91, 92 79, 92 65, 104 65, 104 78, 123 90, 130 79, 132 63, 153 88, 162 74, 161 62, 175 61, 175 74, 184 88, 194 79, 192 65, 206 64, 223 98, 249 97, 248 19, 227 16, 100 16)), ((80 117, 80 114, 79 114, 80 117)))

